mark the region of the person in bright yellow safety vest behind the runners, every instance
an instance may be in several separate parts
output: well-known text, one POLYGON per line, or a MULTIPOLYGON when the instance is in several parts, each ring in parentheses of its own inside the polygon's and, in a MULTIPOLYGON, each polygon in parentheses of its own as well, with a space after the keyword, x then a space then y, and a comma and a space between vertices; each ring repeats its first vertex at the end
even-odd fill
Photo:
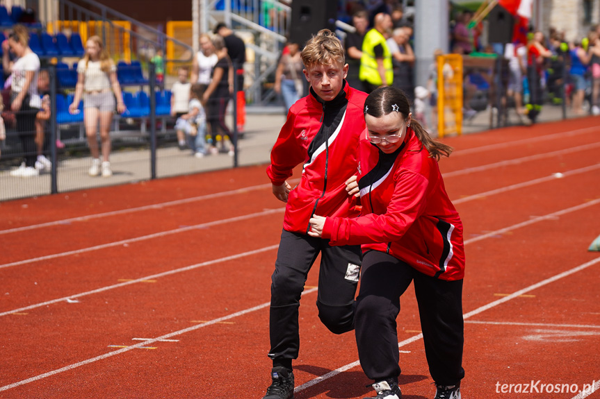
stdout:
POLYGON ((380 86, 391 86, 394 80, 391 52, 385 37, 389 37, 391 28, 389 14, 380 12, 375 15, 374 27, 364 36, 359 71, 364 92, 370 93, 380 86))

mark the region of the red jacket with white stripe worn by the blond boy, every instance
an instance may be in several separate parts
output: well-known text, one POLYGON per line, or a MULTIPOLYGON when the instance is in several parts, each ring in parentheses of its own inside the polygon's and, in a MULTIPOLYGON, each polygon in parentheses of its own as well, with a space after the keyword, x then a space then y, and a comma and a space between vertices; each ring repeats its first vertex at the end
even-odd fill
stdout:
POLYGON ((267 167, 271 182, 281 185, 304 162, 300 183, 289 194, 284 230, 307 233, 313 214, 357 216, 346 180, 357 170, 365 99, 366 93, 344 81, 343 90, 332 101, 321 100, 311 89, 290 108, 267 167))

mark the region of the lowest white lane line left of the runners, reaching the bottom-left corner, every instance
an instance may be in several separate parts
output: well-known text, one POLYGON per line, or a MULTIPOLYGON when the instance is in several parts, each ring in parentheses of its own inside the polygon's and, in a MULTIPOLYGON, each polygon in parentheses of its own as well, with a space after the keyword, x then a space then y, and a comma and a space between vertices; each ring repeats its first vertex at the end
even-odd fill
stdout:
MULTIPOLYGON (((311 294, 313 292, 316 292, 316 290, 317 290, 316 288, 307 289, 306 291, 302 292, 302 295, 311 294)), ((143 346, 147 346, 147 345, 150 345, 150 344, 155 343, 155 342, 163 341, 165 339, 170 339, 172 337, 177 337, 178 335, 185 334, 186 332, 195 331, 195 330, 198 330, 199 328, 207 327, 209 325, 220 323, 222 321, 227 321, 229 319, 234 319, 235 317, 243 316, 244 314, 248 314, 248 313, 251 313, 251 312, 256 312, 257 310, 260 310, 260 309, 263 309, 265 307, 268 307, 269 305, 270 305, 269 302, 262 303, 261 305, 257 305, 257 306, 254 306, 254 307, 250 307, 248 309, 241 310, 239 312, 228 314, 227 316, 222 316, 222 317, 219 317, 218 319, 213 319, 211 321, 206 321, 206 323, 193 325, 191 327, 184 328, 183 330, 179 330, 179 331, 175 331, 175 332, 170 332, 169 334, 161 335, 161 337, 156 337, 156 338, 153 338, 153 339, 148 339, 146 341, 143 341, 143 342, 140 342, 140 343, 136 343, 135 345, 127 346, 127 348, 122 348, 122 349, 119 349, 119 350, 115 350, 113 352, 105 353, 104 355, 100 355, 100 356, 97 356, 97 357, 92 357, 91 359, 86 359, 86 360, 83 360, 82 362, 70 364, 69 366, 65 366, 65 367, 58 368, 58 369, 53 370, 53 371, 49 371, 48 373, 36 375, 35 377, 27 378, 26 380, 15 382, 13 384, 8 384, 8 385, 5 385, 4 387, 0 387, 0 392, 1 391, 6 391, 8 389, 15 388, 15 387, 19 387, 20 385, 29 384, 29 382, 35 382, 35 381, 38 381, 38 380, 42 380, 42 378, 51 377, 52 375, 56 375, 56 374, 59 374, 59 373, 64 373, 65 371, 70 371, 70 370, 72 370, 74 368, 85 366, 86 364, 98 362, 99 360, 106 359, 108 357, 113 357, 113 356, 116 356, 116 355, 120 355, 121 353, 129 352, 129 350, 133 350, 133 349, 136 349, 136 348, 141 348, 143 346)))

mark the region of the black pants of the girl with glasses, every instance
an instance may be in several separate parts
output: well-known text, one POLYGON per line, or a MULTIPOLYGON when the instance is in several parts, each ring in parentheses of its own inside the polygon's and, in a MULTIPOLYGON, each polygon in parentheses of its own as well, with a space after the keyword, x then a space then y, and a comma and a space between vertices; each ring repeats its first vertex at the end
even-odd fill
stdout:
POLYGON ((396 317, 400 296, 414 281, 431 377, 437 384, 458 384, 464 377, 462 280, 432 278, 378 251, 364 254, 361 273, 356 340, 366 376, 378 382, 400 375, 396 317))

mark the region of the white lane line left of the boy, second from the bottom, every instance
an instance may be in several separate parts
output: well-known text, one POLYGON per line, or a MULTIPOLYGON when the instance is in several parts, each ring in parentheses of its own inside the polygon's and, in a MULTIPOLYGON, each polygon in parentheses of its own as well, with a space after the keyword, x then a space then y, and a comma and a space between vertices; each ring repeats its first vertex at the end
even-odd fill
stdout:
POLYGON ((143 282, 144 280, 148 280, 149 278, 165 277, 165 275, 172 275, 172 274, 181 273, 181 272, 184 272, 184 271, 190 271, 190 270, 193 270, 193 269, 198 269, 199 267, 209 266, 211 264, 228 262, 230 260, 236 260, 236 259, 239 259, 241 257, 246 257, 246 256, 250 256, 250 255, 256 255, 257 253, 263 253, 263 252, 267 252, 267 251, 272 251, 274 249, 277 249, 277 247, 279 247, 279 244, 277 244, 277 245, 271 245, 271 246, 266 246, 264 248, 255 249, 253 251, 247 251, 247 252, 243 252, 243 253, 238 253, 236 255, 230 255, 230 256, 226 256, 226 257, 221 257, 220 259, 216 259, 216 260, 209 260, 209 261, 202 262, 202 263, 192 264, 190 266, 181 267, 179 269, 172 269, 172 270, 168 270, 168 271, 163 271, 162 273, 156 273, 156 274, 145 276, 145 277, 142 277, 142 278, 136 278, 135 280, 129 280, 129 281, 126 281, 126 282, 120 282, 119 284, 115 284, 115 285, 108 285, 106 287, 101 287, 101 288, 98 288, 98 289, 92 289, 91 291, 81 292, 80 294, 74 294, 74 295, 70 295, 70 296, 63 296, 63 298, 58 298, 58 299, 53 299, 53 300, 47 300, 46 302, 35 303, 33 305, 29 305, 29 306, 25 306, 25 307, 19 307, 19 309, 9 310, 8 312, 1 312, 0 316, 6 316, 7 314, 15 314, 15 313, 18 313, 18 312, 22 312, 22 311, 24 311, 26 309, 35 309, 36 307, 42 307, 42 306, 52 305, 53 303, 65 302, 67 300, 73 300, 73 298, 81 298, 82 296, 88 296, 88 295, 92 295, 92 294, 98 294, 99 292, 104 292, 104 291, 108 291, 108 290, 115 289, 115 288, 126 287, 127 285, 132 285, 132 284, 136 284, 138 282, 143 282))

